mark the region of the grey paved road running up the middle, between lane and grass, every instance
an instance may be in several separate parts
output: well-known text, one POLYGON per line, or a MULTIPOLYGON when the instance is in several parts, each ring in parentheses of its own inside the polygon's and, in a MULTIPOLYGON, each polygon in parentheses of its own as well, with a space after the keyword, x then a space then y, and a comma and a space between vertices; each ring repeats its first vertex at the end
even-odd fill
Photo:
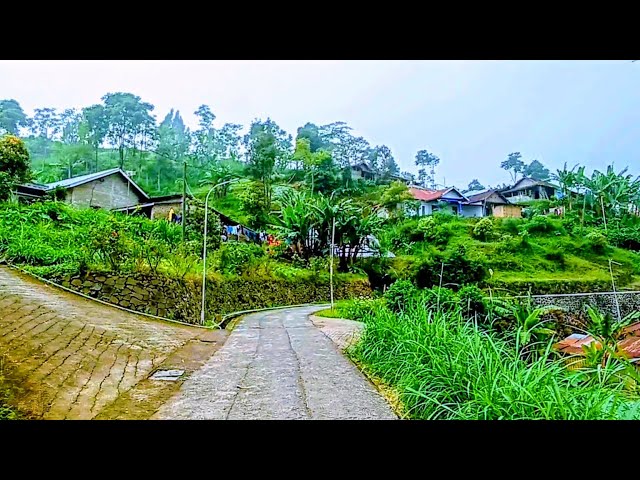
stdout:
POLYGON ((309 319, 317 307, 246 316, 156 419, 395 419, 309 319))

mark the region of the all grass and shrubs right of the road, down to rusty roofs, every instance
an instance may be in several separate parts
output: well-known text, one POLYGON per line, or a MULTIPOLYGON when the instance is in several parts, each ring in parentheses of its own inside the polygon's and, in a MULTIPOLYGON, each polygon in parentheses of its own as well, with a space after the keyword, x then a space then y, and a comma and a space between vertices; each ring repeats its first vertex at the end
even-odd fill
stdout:
POLYGON ((544 309, 472 289, 420 290, 401 280, 381 298, 339 302, 336 314, 365 322, 348 353, 392 387, 404 418, 640 418, 640 375, 617 350, 620 327, 594 310, 589 330, 604 348, 580 362, 554 351, 561 336, 544 309))

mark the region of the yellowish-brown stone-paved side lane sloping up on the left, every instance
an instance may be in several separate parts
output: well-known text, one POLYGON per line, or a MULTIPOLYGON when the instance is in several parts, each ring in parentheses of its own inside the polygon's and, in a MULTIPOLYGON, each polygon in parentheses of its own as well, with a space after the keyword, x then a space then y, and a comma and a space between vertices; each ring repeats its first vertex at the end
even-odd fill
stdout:
POLYGON ((16 404, 32 417, 91 419, 117 404, 99 418, 130 418, 129 405, 157 393, 134 388, 154 369, 168 357, 182 362, 174 368, 186 362, 196 369, 223 337, 91 302, 0 266, 0 377, 19 387, 16 404), (115 402, 127 395, 128 403, 115 402))

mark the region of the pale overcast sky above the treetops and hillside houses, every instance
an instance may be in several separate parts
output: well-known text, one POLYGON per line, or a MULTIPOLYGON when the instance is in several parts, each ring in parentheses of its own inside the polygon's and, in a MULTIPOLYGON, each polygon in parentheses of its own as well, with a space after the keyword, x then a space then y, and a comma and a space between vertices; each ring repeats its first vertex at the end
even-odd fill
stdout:
POLYGON ((347 122, 389 146, 402 170, 415 153, 441 159, 438 182, 508 182, 510 152, 552 170, 630 166, 640 174, 640 62, 631 61, 0 61, 0 98, 28 115, 82 108, 131 92, 161 120, 211 107, 216 124, 347 122))

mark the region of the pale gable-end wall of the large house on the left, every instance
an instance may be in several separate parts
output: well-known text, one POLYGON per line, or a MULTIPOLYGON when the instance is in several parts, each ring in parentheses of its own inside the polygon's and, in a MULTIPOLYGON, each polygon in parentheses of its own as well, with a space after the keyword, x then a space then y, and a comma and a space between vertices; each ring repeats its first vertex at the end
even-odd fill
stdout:
POLYGON ((105 209, 129 207, 140 203, 138 191, 120 174, 114 173, 70 189, 67 203, 78 207, 105 209))

